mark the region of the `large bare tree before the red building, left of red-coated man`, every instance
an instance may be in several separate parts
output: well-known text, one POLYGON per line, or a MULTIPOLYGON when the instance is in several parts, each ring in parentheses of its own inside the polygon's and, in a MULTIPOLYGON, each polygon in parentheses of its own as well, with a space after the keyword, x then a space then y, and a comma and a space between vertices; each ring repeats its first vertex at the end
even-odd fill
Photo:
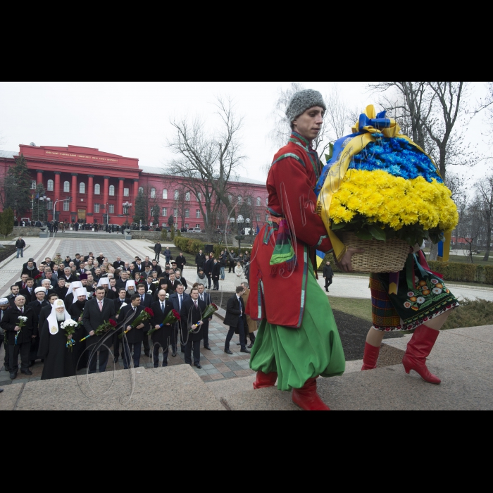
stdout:
POLYGON ((168 147, 178 157, 169 164, 167 173, 185 178, 182 185, 199 198, 208 241, 220 203, 232 210, 230 180, 244 161, 240 138, 243 118, 236 116, 231 99, 217 98, 216 108, 219 125, 211 134, 201 118, 181 118, 171 121, 175 135, 168 139, 168 147))

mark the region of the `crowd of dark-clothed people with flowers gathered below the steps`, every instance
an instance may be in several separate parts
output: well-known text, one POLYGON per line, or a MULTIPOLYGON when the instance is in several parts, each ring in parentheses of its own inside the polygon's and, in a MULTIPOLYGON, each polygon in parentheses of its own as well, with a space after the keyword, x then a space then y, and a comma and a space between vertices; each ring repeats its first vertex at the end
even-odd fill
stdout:
MULTIPOLYGON (((157 368, 160 349, 166 367, 169 353, 176 357, 180 347, 185 363, 200 369, 201 342, 211 350, 208 325, 212 315, 203 320, 213 305, 208 291, 219 289, 226 263, 236 260, 235 254, 225 250, 215 258, 200 251, 195 259, 196 277, 187 281, 182 274, 185 255, 173 259, 165 249, 166 263, 161 267, 160 246, 156 244, 157 258, 135 257, 131 262, 121 256, 111 262, 102 252, 99 256, 92 252, 67 256, 63 261, 46 257, 39 265, 29 258, 20 281, 0 299, 0 344, 5 344, 5 368, 11 380, 19 370, 32 375, 30 368, 37 361, 44 363, 42 380, 73 376, 84 368, 89 374, 101 373, 108 366, 111 348, 114 363, 121 357, 124 368, 139 367, 142 348, 157 368), (163 323, 170 313, 179 316, 163 323), (108 329, 108 320, 114 320, 115 327, 101 330, 105 323, 108 329)), ((237 265, 247 266, 248 253, 239 256, 242 261, 237 265)), ((236 291, 227 307, 225 323, 231 327, 227 354, 232 354, 230 341, 235 332, 242 352, 249 353, 255 341, 256 323, 245 314, 248 282, 242 278, 236 291)))

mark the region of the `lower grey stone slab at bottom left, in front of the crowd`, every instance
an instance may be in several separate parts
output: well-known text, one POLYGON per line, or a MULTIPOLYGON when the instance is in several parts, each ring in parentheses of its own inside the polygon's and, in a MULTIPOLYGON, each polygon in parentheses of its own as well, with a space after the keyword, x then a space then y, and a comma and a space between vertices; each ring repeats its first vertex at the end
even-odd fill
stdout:
POLYGON ((188 365, 107 371, 9 385, 0 410, 16 411, 224 411, 188 365))

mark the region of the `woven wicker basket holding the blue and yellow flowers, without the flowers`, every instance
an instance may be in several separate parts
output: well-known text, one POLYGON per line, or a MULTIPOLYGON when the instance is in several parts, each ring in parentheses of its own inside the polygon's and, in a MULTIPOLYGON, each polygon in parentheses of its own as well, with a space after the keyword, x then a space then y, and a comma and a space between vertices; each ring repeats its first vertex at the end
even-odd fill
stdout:
POLYGON ((364 254, 355 254, 351 259, 355 272, 400 272, 406 265, 409 245, 401 239, 380 242, 377 239, 359 239, 351 232, 338 232, 337 236, 344 245, 365 250, 364 254))

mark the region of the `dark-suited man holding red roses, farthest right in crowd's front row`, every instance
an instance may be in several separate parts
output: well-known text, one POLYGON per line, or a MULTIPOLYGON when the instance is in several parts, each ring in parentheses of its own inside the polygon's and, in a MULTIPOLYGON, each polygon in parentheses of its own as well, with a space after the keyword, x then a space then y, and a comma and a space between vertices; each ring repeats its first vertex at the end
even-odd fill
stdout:
POLYGON ((204 301, 199 299, 199 289, 192 288, 190 298, 182 304, 180 311, 182 325, 182 341, 185 344, 185 363, 192 366, 192 347, 194 351, 194 366, 202 368, 200 365, 200 342, 202 340, 202 327, 204 322, 201 320, 202 313, 206 309, 204 301), (192 331, 192 332, 190 332, 192 331))

